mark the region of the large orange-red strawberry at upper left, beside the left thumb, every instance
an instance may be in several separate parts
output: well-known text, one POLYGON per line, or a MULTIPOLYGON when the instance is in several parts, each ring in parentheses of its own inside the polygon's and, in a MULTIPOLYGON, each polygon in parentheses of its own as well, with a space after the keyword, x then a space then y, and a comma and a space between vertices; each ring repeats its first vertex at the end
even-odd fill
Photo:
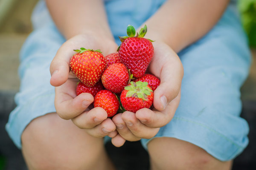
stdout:
POLYGON ((106 59, 99 50, 80 49, 74 50, 77 53, 70 59, 71 71, 85 85, 93 87, 107 68, 106 59))

